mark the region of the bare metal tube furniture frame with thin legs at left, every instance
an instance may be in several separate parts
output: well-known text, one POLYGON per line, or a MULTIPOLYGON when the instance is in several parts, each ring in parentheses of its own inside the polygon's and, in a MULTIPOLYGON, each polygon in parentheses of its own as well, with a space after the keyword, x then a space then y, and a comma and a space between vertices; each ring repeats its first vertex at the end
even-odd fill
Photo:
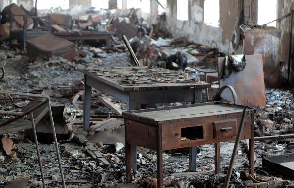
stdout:
MULTIPOLYGON (((4 90, 0 90, 0 94, 24 96, 24 97, 29 97, 29 98, 27 98, 28 100, 32 100, 31 98, 33 98, 34 100, 39 101, 39 103, 37 105, 26 110, 25 112, 13 112, 13 111, 0 110, 1 115, 13 116, 13 118, 11 117, 6 122, 3 122, 0 124, 0 131, 6 130, 9 132, 15 132, 15 131, 28 129, 31 127, 33 128, 43 188, 46 188, 46 185, 45 185, 45 179, 44 179, 43 168, 42 168, 42 160, 40 158, 40 150, 39 150, 39 144, 38 144, 38 140, 37 140, 37 133, 36 133, 36 127, 35 127, 35 124, 36 124, 35 120, 39 120, 41 118, 42 114, 40 114, 40 116, 36 117, 36 119, 35 119, 35 117, 33 115, 33 111, 47 103, 47 106, 48 106, 47 111, 49 109, 51 128, 52 128, 53 138, 54 138, 54 142, 55 142, 55 148, 56 148, 56 154, 57 154, 58 163, 59 163, 62 184, 63 184, 63 188, 66 188, 63 170, 62 170, 62 164, 61 164, 60 155, 59 155, 58 142, 56 139, 54 121, 53 121, 53 116, 52 116, 52 111, 51 111, 50 97, 47 95, 43 95, 43 94, 29 94, 29 93, 11 92, 11 91, 4 91, 4 90), (23 123, 17 122, 17 120, 21 119, 21 118, 24 118, 25 122, 23 122, 23 123), (26 121, 29 118, 30 118, 31 123, 26 121)), ((1 134, 4 134, 4 133, 5 133, 4 131, 1 132, 1 134)), ((8 132, 6 132, 6 133, 8 133, 8 132)))

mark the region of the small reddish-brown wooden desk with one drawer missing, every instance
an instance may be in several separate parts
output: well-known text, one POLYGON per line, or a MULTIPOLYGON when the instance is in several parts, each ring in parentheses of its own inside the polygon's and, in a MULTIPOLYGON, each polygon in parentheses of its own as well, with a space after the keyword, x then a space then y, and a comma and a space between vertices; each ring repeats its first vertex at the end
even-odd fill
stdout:
MULTIPOLYGON (((157 151, 157 185, 163 188, 162 152, 235 141, 244 107, 247 106, 209 102, 123 112, 126 181, 130 183, 132 180, 131 161, 136 159, 131 153, 132 145, 157 151)), ((253 175, 255 109, 247 109, 241 138, 249 139, 249 173, 253 175)), ((220 147, 215 147, 215 171, 220 171, 220 147)))

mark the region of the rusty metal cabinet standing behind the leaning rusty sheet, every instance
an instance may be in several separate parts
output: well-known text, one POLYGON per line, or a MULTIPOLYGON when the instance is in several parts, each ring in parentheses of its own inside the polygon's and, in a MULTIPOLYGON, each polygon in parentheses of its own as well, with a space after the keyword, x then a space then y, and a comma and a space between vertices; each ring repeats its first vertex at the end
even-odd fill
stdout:
POLYGON ((280 87, 282 84, 280 43, 281 31, 275 27, 245 31, 244 54, 262 54, 267 87, 280 87))

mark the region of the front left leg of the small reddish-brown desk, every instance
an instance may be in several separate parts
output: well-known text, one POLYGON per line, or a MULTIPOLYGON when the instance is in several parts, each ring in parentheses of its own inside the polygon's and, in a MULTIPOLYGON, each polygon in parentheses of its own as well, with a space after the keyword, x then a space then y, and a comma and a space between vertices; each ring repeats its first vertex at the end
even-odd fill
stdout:
POLYGON ((158 125, 156 134, 156 159, 157 159, 157 188, 163 188, 163 160, 162 160, 162 128, 158 125))

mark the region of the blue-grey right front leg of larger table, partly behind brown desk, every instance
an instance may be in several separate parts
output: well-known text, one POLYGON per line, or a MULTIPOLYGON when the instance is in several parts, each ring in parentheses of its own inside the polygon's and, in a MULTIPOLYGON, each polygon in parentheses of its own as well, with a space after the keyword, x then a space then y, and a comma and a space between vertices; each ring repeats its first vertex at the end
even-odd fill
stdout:
MULTIPOLYGON (((194 99, 192 103, 202 102, 202 89, 194 89, 194 99)), ((196 171, 196 160, 197 160, 198 146, 189 148, 189 172, 196 171)))

